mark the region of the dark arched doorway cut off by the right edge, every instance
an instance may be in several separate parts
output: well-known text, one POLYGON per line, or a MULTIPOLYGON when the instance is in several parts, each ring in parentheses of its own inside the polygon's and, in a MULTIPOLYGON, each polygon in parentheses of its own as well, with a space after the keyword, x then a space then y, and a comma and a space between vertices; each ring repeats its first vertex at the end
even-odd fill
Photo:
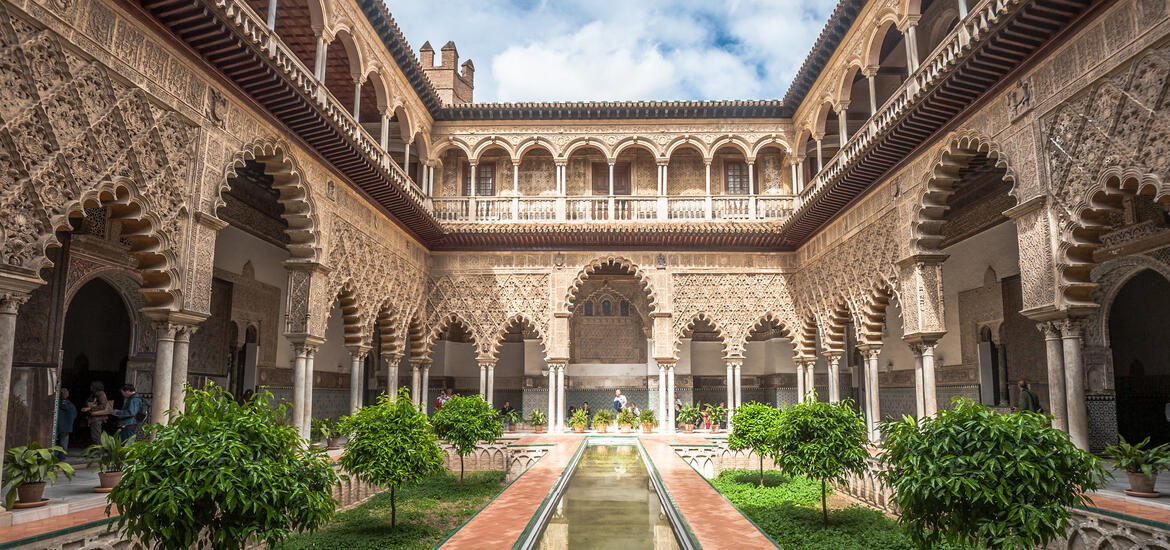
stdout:
POLYGON ((1170 281, 1145 269, 1109 307, 1109 348, 1117 387, 1117 433, 1127 441, 1170 442, 1170 281))

